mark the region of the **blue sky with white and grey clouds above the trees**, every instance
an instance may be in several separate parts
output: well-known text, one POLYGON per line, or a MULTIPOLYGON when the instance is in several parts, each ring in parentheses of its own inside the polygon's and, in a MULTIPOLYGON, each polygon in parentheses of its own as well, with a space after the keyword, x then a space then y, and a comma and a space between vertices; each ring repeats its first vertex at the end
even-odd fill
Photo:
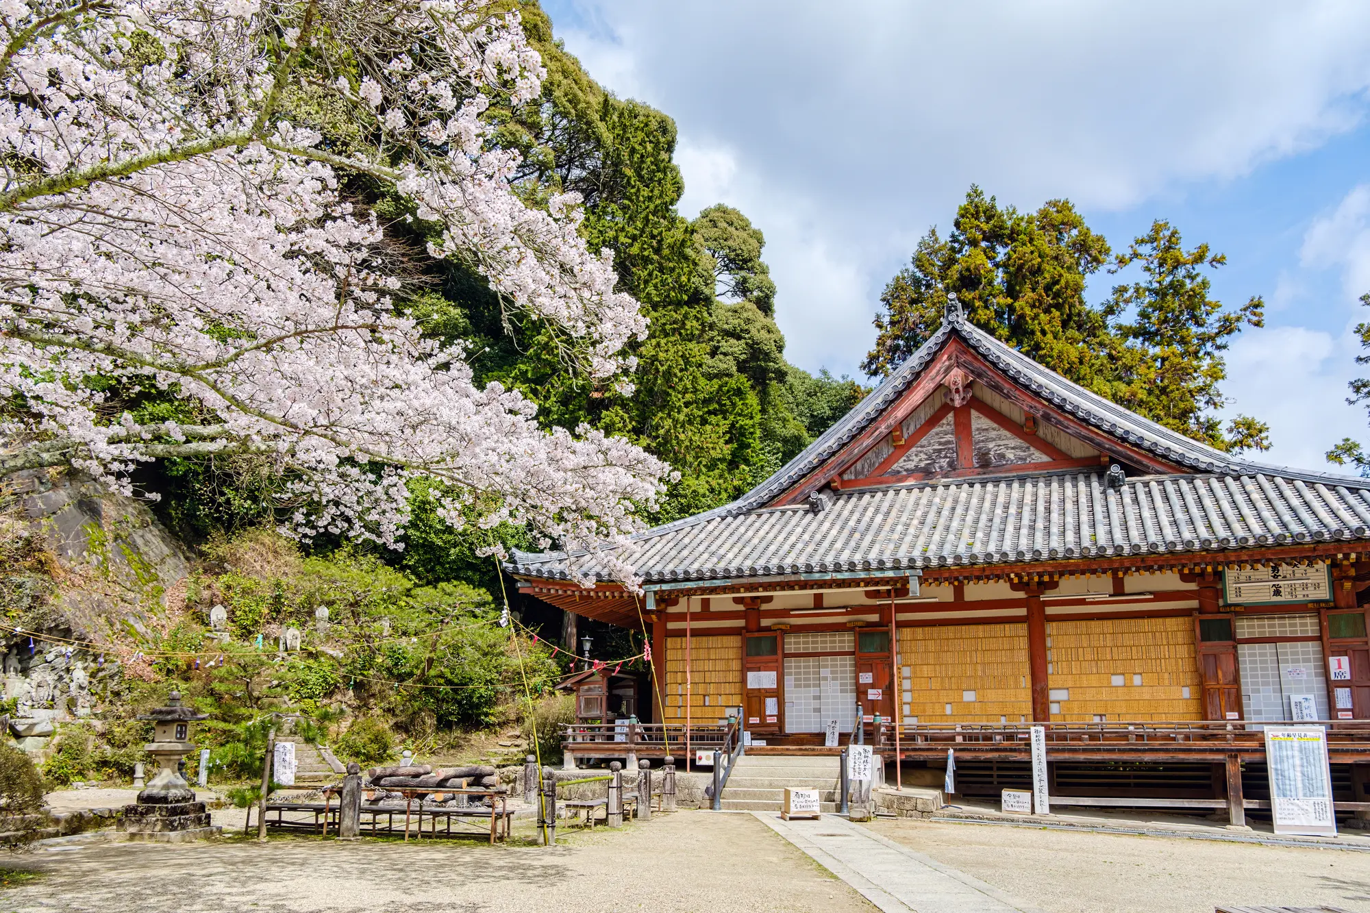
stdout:
POLYGON ((1069 197, 1115 249, 1164 218, 1226 254, 1214 296, 1267 304, 1223 387, 1270 424, 1263 459, 1319 469, 1370 439, 1345 404, 1370 319, 1370 4, 544 8, 596 80, 675 118, 681 212, 727 203, 766 233, 793 363, 860 377, 881 289, 974 182, 1069 197))

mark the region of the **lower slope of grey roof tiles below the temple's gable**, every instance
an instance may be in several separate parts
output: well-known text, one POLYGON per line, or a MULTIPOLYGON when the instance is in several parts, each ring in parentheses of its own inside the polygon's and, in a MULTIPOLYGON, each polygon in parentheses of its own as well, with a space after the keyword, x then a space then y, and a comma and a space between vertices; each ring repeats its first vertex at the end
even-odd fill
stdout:
MULTIPOLYGON (((1103 473, 922 483, 807 506, 714 515, 640 539, 649 583, 1060 558, 1200 552, 1370 539, 1370 489, 1270 474, 1103 473)), ((515 552, 521 576, 567 576, 558 552, 515 552)))

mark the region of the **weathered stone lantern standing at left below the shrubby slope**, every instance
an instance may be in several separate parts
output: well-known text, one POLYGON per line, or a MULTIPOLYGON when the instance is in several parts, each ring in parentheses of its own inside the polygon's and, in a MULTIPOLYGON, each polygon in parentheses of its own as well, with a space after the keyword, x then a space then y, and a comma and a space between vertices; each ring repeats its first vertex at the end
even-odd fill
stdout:
POLYGON ((158 770, 138 792, 137 803, 123 809, 123 829, 130 840, 195 840, 219 832, 210 827, 204 802, 195 801, 195 790, 178 769, 181 759, 195 751, 190 724, 204 718, 181 706, 181 695, 175 691, 169 695, 167 706, 138 717, 152 721, 152 742, 144 750, 156 761, 158 770))

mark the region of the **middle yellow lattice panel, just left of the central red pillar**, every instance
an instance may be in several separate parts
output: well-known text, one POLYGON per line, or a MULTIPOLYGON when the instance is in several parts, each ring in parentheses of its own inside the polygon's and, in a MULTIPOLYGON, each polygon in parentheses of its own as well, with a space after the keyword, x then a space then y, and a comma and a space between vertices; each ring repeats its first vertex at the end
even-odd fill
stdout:
POLYGON ((899 655, 900 696, 910 721, 1018 722, 1032 717, 1025 624, 901 628, 899 655), (974 701, 966 701, 969 691, 975 692, 974 701))

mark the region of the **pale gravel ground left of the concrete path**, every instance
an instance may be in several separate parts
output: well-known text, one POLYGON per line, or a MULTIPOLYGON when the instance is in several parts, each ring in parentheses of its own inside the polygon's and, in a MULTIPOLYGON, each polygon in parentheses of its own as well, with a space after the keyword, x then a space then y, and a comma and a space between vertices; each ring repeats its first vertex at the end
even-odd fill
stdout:
POLYGON ((273 838, 266 846, 101 843, 11 864, 44 872, 0 891, 0 909, 16 913, 874 910, 749 814, 701 812, 571 833, 564 843, 559 835, 549 850, 273 838))

